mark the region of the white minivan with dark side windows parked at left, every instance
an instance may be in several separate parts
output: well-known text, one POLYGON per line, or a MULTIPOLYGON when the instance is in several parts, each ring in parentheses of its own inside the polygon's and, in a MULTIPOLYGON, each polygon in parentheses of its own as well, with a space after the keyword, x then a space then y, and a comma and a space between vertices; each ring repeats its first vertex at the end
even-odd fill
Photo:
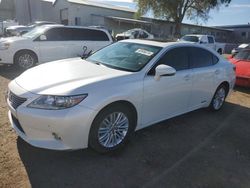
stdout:
POLYGON ((0 64, 15 64, 28 69, 37 63, 77 57, 113 42, 104 29, 44 25, 20 37, 0 40, 0 64))

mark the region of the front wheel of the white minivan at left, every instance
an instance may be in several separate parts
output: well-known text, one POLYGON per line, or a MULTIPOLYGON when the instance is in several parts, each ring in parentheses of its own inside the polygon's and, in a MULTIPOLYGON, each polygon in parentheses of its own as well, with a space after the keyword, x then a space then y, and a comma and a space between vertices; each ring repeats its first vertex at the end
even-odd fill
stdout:
POLYGON ((37 57, 33 52, 21 51, 15 55, 14 64, 19 69, 27 70, 37 63, 37 57))

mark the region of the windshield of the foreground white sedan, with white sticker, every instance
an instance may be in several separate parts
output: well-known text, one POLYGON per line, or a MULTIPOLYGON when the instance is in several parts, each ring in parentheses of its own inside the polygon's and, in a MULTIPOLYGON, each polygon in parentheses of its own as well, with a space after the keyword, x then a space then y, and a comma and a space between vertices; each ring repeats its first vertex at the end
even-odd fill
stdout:
POLYGON ((161 49, 145 44, 117 42, 97 51, 86 60, 118 70, 137 72, 161 49))

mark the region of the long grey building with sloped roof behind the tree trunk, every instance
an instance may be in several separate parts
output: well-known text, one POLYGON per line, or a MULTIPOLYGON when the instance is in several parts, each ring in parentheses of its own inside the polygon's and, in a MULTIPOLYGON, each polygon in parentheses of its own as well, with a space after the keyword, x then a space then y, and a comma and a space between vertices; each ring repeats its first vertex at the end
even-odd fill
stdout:
MULTIPOLYGON (((66 25, 98 25, 120 33, 132 28, 143 28, 157 38, 171 39, 175 24, 170 21, 141 17, 134 19, 135 10, 87 0, 56 0, 53 3, 57 12, 56 21, 66 25)), ((229 41, 232 31, 223 28, 182 24, 181 34, 211 34, 217 41, 229 41)))

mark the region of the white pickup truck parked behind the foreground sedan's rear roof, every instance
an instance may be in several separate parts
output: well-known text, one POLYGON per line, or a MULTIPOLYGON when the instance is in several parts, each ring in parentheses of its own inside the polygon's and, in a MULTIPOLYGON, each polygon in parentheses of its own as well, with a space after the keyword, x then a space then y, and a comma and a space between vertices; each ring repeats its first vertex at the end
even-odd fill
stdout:
POLYGON ((212 48, 219 54, 222 54, 225 48, 225 44, 215 42, 214 36, 212 35, 184 35, 178 41, 201 44, 208 48, 212 48))

